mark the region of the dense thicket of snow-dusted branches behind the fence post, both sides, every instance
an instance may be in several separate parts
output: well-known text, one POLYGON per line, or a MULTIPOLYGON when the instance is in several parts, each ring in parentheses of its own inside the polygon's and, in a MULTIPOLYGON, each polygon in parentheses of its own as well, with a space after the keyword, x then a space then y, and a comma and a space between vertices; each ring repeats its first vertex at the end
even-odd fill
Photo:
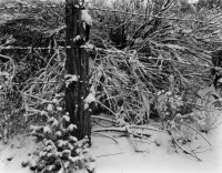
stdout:
MULTIPOLYGON (((221 47, 220 10, 205 10, 203 2, 87 3, 93 18, 90 83, 100 109, 124 110, 124 119, 134 122, 157 114, 160 90, 174 88, 184 101, 195 100, 193 89, 211 80, 211 52, 221 47)), ((64 4, 32 0, 1 8, 1 47, 9 48, 1 49, 1 75, 21 94, 26 118, 33 119, 42 100, 63 90, 64 4), (39 47, 46 49, 32 49, 39 47)))

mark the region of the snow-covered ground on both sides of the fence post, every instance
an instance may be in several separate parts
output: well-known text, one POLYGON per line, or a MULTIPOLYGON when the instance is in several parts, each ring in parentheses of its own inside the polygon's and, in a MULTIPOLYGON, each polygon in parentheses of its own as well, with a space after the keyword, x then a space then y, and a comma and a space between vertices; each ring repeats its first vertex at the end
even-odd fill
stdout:
MULTIPOLYGON (((160 142, 140 143, 143 152, 135 153, 129 138, 108 132, 113 140, 93 134, 91 154, 97 157, 95 173, 221 173, 222 172, 222 125, 208 135, 212 151, 198 154, 202 161, 182 152, 175 153, 169 146, 169 136, 154 132, 160 142)), ((17 138, 8 145, 0 145, 0 173, 30 173, 21 167, 21 162, 30 159, 28 153, 37 149, 31 138, 17 138)))

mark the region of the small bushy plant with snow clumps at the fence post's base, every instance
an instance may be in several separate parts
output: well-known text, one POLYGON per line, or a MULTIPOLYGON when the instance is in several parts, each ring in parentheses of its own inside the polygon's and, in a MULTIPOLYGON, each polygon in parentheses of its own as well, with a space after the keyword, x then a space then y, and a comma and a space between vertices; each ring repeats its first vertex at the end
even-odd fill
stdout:
POLYGON ((73 135, 77 125, 70 124, 69 113, 62 111, 59 101, 53 99, 46 110, 41 111, 41 115, 47 116, 48 122, 44 125, 30 126, 32 135, 42 142, 38 159, 29 162, 30 169, 41 173, 77 170, 93 172, 95 160, 88 154, 88 138, 79 141, 73 135))

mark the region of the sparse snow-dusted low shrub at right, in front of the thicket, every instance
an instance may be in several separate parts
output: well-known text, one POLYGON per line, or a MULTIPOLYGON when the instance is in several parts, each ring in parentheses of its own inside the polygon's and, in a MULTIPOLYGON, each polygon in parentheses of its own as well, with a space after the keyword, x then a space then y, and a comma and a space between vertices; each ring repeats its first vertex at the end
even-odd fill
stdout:
POLYGON ((181 96, 175 89, 160 91, 157 94, 155 109, 160 115, 163 130, 168 131, 172 136, 172 146, 178 146, 184 153, 200 160, 196 153, 201 151, 193 146, 203 142, 211 146, 210 142, 201 133, 203 129, 209 126, 209 119, 205 116, 206 112, 203 111, 193 112, 192 110, 192 112, 184 113, 183 109, 189 104, 189 102, 184 101, 188 98, 184 96, 188 95, 181 96))

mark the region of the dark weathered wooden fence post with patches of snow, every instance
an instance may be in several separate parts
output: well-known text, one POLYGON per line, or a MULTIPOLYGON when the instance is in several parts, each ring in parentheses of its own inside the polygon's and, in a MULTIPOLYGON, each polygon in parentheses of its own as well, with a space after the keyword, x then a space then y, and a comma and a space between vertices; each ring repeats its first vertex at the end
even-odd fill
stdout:
POLYGON ((88 41, 89 28, 87 31, 82 21, 83 3, 82 0, 65 0, 65 110, 70 123, 78 126, 74 135, 78 140, 88 136, 91 144, 91 116, 89 109, 84 109, 84 99, 89 95, 89 53, 81 45, 88 41))

